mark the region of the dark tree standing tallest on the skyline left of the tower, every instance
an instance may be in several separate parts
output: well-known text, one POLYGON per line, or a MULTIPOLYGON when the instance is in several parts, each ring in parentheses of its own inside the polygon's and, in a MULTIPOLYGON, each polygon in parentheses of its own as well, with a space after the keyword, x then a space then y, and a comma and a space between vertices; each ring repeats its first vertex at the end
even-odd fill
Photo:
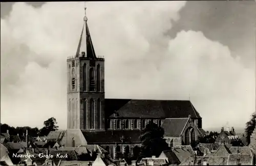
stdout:
POLYGON ((39 135, 40 136, 45 136, 48 135, 50 131, 56 131, 58 130, 59 126, 56 126, 57 122, 55 118, 49 118, 44 122, 44 127, 42 127, 39 130, 39 135))

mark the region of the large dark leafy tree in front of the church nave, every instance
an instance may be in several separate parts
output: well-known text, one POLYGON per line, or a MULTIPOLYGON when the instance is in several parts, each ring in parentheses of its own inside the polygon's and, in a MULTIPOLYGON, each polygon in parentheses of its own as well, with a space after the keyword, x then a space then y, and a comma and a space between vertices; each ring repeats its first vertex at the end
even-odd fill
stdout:
POLYGON ((139 158, 159 156, 162 151, 169 150, 170 148, 165 142, 163 135, 164 129, 150 121, 140 135, 142 146, 139 158))

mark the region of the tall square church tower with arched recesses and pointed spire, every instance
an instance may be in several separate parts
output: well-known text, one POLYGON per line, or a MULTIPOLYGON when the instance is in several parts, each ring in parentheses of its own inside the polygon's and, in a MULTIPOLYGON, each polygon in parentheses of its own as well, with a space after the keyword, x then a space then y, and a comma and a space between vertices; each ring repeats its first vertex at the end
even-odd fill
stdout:
POLYGON ((68 129, 105 129, 104 58, 96 57, 86 15, 76 54, 68 58, 67 68, 68 129), (86 48, 81 48, 84 26, 86 48))

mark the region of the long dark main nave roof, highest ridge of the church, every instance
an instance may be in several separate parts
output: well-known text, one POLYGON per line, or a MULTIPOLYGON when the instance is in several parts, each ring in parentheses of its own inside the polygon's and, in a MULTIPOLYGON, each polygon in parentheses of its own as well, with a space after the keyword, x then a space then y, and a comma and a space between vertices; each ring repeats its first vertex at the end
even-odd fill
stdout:
POLYGON ((106 99, 105 110, 111 118, 201 118, 188 100, 106 99))

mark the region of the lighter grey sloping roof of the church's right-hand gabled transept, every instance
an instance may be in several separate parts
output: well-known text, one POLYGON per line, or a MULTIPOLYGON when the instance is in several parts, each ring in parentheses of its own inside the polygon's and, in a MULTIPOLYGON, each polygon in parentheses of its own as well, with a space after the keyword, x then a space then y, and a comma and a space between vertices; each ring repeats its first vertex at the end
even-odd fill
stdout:
POLYGON ((162 124, 164 136, 180 136, 188 118, 166 118, 162 124))

